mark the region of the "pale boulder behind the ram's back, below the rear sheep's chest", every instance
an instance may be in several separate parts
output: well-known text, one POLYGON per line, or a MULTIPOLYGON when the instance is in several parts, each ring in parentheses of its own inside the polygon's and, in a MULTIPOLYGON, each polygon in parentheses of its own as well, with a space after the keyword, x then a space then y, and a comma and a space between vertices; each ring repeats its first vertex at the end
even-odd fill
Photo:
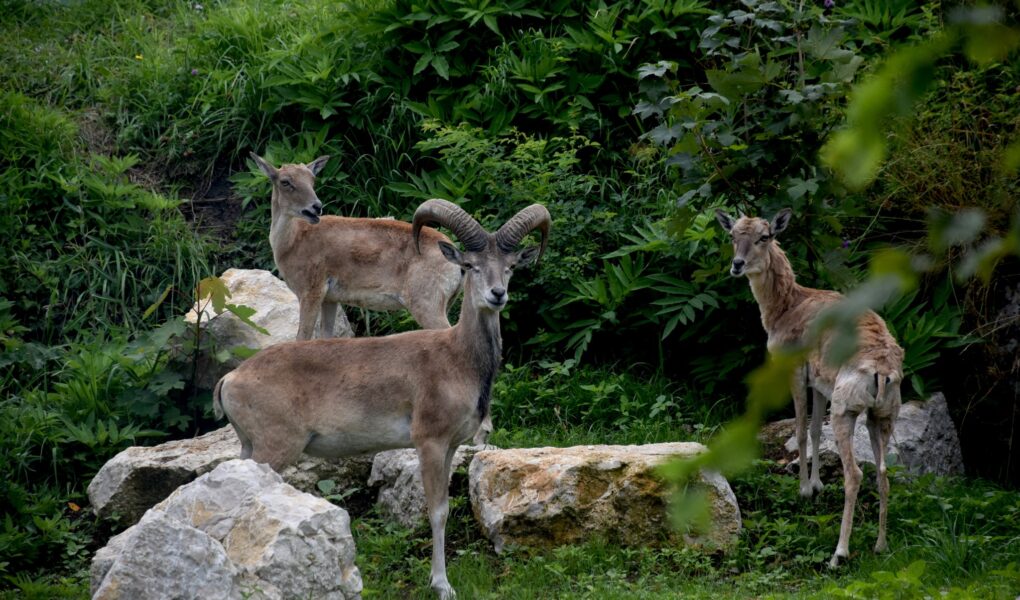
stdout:
MULTIPOLYGON (((196 382, 207 390, 241 363, 241 358, 234 355, 220 362, 213 356, 216 350, 239 346, 261 350, 280 342, 293 342, 298 335, 298 297, 282 280, 267 270, 245 268, 230 268, 219 279, 231 292, 227 302, 254 308, 251 320, 269 333, 266 335, 252 328, 230 311, 217 314, 208 300, 196 303, 185 315, 185 320, 199 322, 214 341, 212 352, 203 353, 198 360, 196 382)), ((337 311, 336 334, 354 335, 343 310, 337 311)))

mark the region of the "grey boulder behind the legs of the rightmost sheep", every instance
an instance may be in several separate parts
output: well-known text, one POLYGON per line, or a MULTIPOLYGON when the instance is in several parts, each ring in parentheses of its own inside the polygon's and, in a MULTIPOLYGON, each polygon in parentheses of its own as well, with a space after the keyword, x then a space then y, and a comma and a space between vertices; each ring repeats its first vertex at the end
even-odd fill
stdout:
MULTIPOLYGON (((857 427, 854 430, 854 456, 860 464, 874 465, 875 456, 871 451, 871 438, 868 436, 866 420, 863 415, 857 419, 857 427)), ((810 438, 809 435, 809 454, 812 451, 810 438)), ((759 439, 763 443, 766 456, 786 463, 792 470, 797 470, 800 457, 797 455, 794 419, 769 423, 763 428, 759 439)), ((900 408, 900 417, 894 426, 887 455, 887 464, 903 465, 907 471, 914 474, 964 472, 960 439, 957 437, 956 427, 950 417, 946 397, 942 394, 935 394, 925 402, 911 401, 903 404, 900 408)), ((827 418, 822 424, 818 462, 825 479, 842 477, 839 452, 832 435, 832 426, 827 418)))

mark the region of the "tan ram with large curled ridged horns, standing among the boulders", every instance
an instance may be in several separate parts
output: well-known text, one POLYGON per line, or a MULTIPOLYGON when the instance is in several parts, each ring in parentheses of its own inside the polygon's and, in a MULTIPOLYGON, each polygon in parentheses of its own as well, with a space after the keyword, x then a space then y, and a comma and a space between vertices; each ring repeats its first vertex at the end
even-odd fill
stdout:
MULTIPOLYGON (((416 227, 424 220, 419 219, 422 209, 437 203, 453 206, 429 200, 415 214, 416 227)), ((545 228, 544 247, 548 212, 539 205, 527 210, 546 217, 530 226, 545 228)), ((470 219, 463 211, 458 215, 470 219)), ((434 246, 466 271, 456 326, 270 346, 224 376, 213 395, 216 414, 225 413, 238 432, 242 458, 277 470, 302 452, 340 457, 415 448, 432 531, 431 587, 441 598, 455 596, 445 556, 451 461, 489 413, 502 348, 499 312, 508 299, 512 270, 539 255, 534 247, 506 249, 526 235, 523 228, 523 233, 511 232, 501 249, 497 238, 471 222, 480 236, 489 236, 484 248, 461 252, 432 235, 422 236, 422 252, 425 245, 434 246)), ((412 239, 411 232, 407 237, 412 239)))

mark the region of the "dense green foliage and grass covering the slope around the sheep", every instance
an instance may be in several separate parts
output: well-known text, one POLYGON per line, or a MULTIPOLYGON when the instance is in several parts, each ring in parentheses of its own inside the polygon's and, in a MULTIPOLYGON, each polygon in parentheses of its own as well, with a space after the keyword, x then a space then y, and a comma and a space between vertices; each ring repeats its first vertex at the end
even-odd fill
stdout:
MULTIPOLYGON (((746 282, 726 277, 716 207, 792 206, 783 245, 805 285, 849 291, 891 260, 888 247, 923 255, 913 290, 883 309, 907 351, 906 395, 945 390, 972 473, 1015 484, 1018 326, 1005 304, 1020 269, 1006 258, 990 282, 953 276, 983 236, 1020 227, 1020 66, 967 42, 980 23, 953 24, 938 2, 823 4, 0 1, 0 587, 81 595, 82 565, 109 534, 80 509, 91 477, 130 444, 212 427, 193 381, 206 341, 178 315, 204 278, 272 268, 268 184, 251 151, 332 155, 317 183, 329 213, 406 218, 442 197, 493 226, 530 202, 550 208, 549 252, 514 280, 504 313, 494 412, 505 445, 707 441, 743 410, 764 335, 746 282), (953 53, 961 45, 977 66, 953 53), (901 90, 882 77, 904 48, 924 69, 901 90), (881 94, 852 95, 875 73, 881 94), (869 106, 876 97, 885 104, 869 106), (859 147, 873 150, 861 164, 819 159, 859 147), (873 184, 848 185, 844 167, 873 184)), ((351 317, 362 333, 413 326, 351 317)), ((493 597, 550 573, 561 597, 666 594, 673 574, 717 595, 732 573, 741 593, 790 582, 822 593, 806 582, 831 545, 818 526, 836 494, 808 509, 792 481, 745 478, 750 520, 733 557, 596 543, 497 559, 461 506, 455 564, 493 597), (607 574, 581 577, 592 570, 607 574)), ((908 550, 825 585, 857 579, 863 597, 1016 591, 1015 497, 972 482, 895 487, 908 550), (939 495, 966 510, 952 517, 939 495), (990 510, 1007 516, 988 522, 990 510)), ((420 545, 420 532, 360 527, 390 545, 385 561, 420 545)), ((364 568, 400 572, 403 590, 422 580, 407 566, 417 570, 364 568)))

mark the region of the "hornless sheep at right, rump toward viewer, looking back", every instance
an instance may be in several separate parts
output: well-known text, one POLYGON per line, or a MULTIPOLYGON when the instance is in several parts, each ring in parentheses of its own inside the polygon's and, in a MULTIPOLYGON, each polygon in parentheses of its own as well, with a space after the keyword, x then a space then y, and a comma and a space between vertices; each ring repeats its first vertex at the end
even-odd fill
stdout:
MULTIPOLYGON (((805 334, 819 312, 843 298, 836 292, 806 288, 797 283, 789 260, 775 241, 775 236, 788 224, 790 214, 788 208, 783 209, 769 222, 748 216, 734 220, 726 213, 716 211, 719 223, 732 238, 730 274, 748 277, 761 310, 762 326, 768 334, 770 352, 803 345, 805 334)), ((846 363, 833 366, 825 360, 825 356, 836 335, 832 331, 822 334, 819 343, 810 349, 807 362, 796 370, 790 386, 801 457, 801 495, 805 497, 810 498, 822 489, 818 471, 818 444, 826 399, 832 402, 832 431, 843 461, 845 500, 839 542, 830 566, 837 566, 850 555, 854 507, 862 477, 854 458, 854 424, 862 412, 867 414, 868 433, 877 465, 879 512, 875 552, 882 552, 887 547, 888 477, 885 450, 892 423, 900 412, 900 382, 903 380, 903 349, 889 334, 885 321, 873 311, 865 312, 858 320, 857 352, 846 363), (814 396, 810 479, 807 460, 809 387, 814 396)))

